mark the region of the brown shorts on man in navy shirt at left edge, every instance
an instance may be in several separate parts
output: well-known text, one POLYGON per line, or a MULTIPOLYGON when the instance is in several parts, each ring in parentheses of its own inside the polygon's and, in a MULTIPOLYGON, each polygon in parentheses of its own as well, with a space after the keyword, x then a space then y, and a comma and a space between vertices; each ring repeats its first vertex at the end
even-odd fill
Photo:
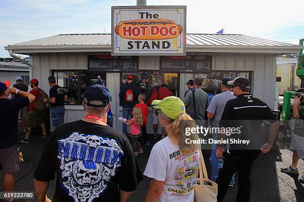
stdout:
POLYGON ((19 153, 16 145, 0 149, 0 170, 4 174, 14 173, 19 170, 19 153))

